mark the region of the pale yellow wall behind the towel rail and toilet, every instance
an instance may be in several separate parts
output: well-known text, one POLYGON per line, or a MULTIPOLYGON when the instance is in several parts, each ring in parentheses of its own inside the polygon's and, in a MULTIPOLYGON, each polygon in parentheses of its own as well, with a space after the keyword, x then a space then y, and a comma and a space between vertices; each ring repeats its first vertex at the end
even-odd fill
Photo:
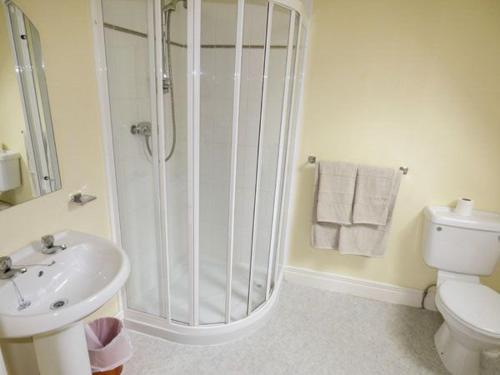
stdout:
MULTIPOLYGON (((436 279, 423 208, 469 196, 500 211, 499 14, 498 1, 315 0, 289 265, 423 289, 436 279), (409 166, 384 258, 310 246, 308 155, 409 166)), ((500 290, 500 265, 483 281, 500 290)))

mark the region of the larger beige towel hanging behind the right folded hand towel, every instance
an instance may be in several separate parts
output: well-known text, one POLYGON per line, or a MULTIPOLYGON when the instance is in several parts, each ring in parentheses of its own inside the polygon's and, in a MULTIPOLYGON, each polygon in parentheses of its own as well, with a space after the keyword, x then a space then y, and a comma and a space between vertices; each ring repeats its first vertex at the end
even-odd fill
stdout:
MULTIPOLYGON (((384 255, 387 247, 389 229, 392 222, 392 213, 396 204, 396 197, 398 195, 400 182, 401 172, 394 171, 393 178, 390 184, 389 201, 387 206, 386 221, 384 225, 353 224, 342 225, 340 227, 338 233, 338 249, 341 254, 362 255, 370 257, 381 257, 384 255)), ((374 212, 385 215, 385 212, 379 205, 374 206, 379 208, 379 210, 368 211, 370 215, 374 212)), ((356 203, 354 204, 354 210, 356 210, 356 203)), ((373 215, 372 217, 374 216, 375 215, 373 215)))

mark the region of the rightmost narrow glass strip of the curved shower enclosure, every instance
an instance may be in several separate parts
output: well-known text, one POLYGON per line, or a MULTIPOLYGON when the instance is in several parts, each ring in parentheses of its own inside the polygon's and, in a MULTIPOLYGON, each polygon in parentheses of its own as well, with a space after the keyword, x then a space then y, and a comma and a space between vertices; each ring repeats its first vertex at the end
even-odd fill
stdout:
POLYGON ((255 202, 256 220, 254 227, 254 264, 252 277, 251 310, 266 300, 267 270, 273 222, 274 193, 277 182, 278 154, 285 80, 287 69, 288 36, 290 30, 291 11, 274 5, 272 11, 272 28, 267 67, 267 88, 264 93, 263 119, 260 128, 262 138, 259 149, 262 162, 260 164, 260 181, 256 186, 258 200, 255 202))

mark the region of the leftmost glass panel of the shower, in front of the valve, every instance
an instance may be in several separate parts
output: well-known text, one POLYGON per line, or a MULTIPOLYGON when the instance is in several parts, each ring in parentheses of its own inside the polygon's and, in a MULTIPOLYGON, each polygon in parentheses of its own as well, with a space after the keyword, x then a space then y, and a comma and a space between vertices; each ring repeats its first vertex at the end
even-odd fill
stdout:
MULTIPOLYGON (((158 194, 152 139, 148 1, 102 0, 121 243, 129 308, 160 315, 158 194), (133 126, 142 133, 132 134, 133 126)), ((154 100, 154 99, 153 99, 154 100)))

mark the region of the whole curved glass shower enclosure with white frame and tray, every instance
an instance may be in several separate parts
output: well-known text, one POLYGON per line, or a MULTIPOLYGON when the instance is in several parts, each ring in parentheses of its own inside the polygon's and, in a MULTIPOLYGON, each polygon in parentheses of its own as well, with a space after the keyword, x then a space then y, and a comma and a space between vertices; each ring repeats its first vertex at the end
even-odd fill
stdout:
POLYGON ((285 258, 306 19, 298 0, 95 0, 116 239, 135 329, 265 321, 285 258))

